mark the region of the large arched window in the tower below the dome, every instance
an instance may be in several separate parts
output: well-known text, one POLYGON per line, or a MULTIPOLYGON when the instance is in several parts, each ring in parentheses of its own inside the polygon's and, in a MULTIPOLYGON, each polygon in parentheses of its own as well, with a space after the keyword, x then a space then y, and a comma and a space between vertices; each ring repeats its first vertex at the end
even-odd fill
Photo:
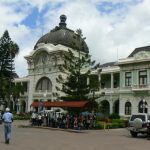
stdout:
POLYGON ((36 85, 36 91, 52 91, 52 83, 50 79, 47 77, 41 78, 36 85))

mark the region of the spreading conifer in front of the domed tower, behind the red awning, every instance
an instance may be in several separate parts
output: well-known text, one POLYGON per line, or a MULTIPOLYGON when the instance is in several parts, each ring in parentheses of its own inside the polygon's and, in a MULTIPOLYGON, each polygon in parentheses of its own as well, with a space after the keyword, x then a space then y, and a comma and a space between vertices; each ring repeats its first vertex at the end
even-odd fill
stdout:
MULTIPOLYGON (((85 38, 82 38, 82 31, 77 30, 79 39, 82 42, 85 38)), ((93 69, 96 69, 99 64, 95 65, 95 61, 91 60, 91 56, 88 53, 80 52, 80 49, 76 52, 78 56, 71 50, 64 54, 64 64, 59 67, 60 71, 65 74, 61 74, 56 79, 57 83, 62 87, 56 87, 58 91, 65 93, 66 96, 61 97, 63 100, 87 100, 88 94, 93 88, 87 84, 87 79, 93 69)))

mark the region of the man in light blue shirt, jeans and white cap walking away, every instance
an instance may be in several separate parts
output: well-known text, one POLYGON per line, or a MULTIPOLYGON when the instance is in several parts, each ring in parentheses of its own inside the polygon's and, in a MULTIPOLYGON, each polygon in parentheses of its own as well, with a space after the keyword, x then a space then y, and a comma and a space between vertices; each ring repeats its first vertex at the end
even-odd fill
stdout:
POLYGON ((13 114, 10 112, 9 108, 6 108, 6 111, 3 114, 2 119, 4 122, 5 143, 9 144, 11 138, 11 124, 13 122, 13 114))

